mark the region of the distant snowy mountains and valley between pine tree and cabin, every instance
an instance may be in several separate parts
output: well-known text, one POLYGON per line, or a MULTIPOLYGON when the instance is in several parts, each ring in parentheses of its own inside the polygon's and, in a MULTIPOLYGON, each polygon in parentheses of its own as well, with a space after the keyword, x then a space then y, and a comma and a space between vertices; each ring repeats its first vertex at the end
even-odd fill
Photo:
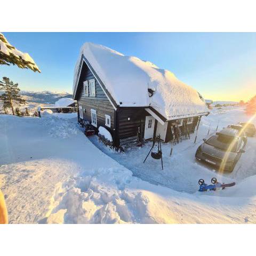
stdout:
POLYGON ((33 92, 33 91, 20 91, 20 94, 26 99, 27 102, 54 104, 61 98, 72 98, 72 94, 68 92, 33 92))

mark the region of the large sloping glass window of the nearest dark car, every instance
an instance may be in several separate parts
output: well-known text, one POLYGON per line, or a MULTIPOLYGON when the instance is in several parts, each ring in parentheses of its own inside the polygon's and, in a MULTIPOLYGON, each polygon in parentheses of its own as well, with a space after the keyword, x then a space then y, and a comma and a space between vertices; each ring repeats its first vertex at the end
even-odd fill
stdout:
POLYGON ((238 139, 237 137, 213 135, 205 143, 225 151, 236 152, 238 139))

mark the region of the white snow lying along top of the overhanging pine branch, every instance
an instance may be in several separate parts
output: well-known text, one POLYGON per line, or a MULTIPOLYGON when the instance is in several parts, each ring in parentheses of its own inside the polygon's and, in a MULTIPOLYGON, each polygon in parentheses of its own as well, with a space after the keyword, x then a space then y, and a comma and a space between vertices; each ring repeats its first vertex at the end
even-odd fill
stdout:
POLYGON ((0 33, 0 51, 7 56, 13 54, 16 58, 21 58, 22 60, 26 61, 26 66, 34 71, 41 72, 40 69, 37 67, 35 61, 30 57, 27 52, 21 52, 17 50, 14 46, 12 46, 7 39, 4 37, 2 33, 0 33))

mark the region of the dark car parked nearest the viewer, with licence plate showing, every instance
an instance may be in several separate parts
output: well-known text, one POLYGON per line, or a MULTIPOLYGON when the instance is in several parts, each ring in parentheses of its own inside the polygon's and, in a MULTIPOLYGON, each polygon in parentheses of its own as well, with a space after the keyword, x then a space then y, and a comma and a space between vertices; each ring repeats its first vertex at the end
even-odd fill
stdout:
POLYGON ((231 127, 217 132, 196 150, 196 159, 220 171, 232 172, 246 145, 244 134, 231 127))

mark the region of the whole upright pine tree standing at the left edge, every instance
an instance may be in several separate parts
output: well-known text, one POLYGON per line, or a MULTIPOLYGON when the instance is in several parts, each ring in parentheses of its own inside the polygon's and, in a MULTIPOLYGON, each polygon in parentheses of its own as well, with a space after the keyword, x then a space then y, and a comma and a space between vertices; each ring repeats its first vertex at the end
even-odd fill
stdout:
POLYGON ((3 77, 3 81, 0 81, 0 91, 3 91, 0 95, 0 100, 3 102, 3 108, 11 108, 13 115, 15 115, 13 102, 18 105, 27 103, 19 94, 20 89, 18 88, 18 83, 14 84, 8 77, 3 77))

